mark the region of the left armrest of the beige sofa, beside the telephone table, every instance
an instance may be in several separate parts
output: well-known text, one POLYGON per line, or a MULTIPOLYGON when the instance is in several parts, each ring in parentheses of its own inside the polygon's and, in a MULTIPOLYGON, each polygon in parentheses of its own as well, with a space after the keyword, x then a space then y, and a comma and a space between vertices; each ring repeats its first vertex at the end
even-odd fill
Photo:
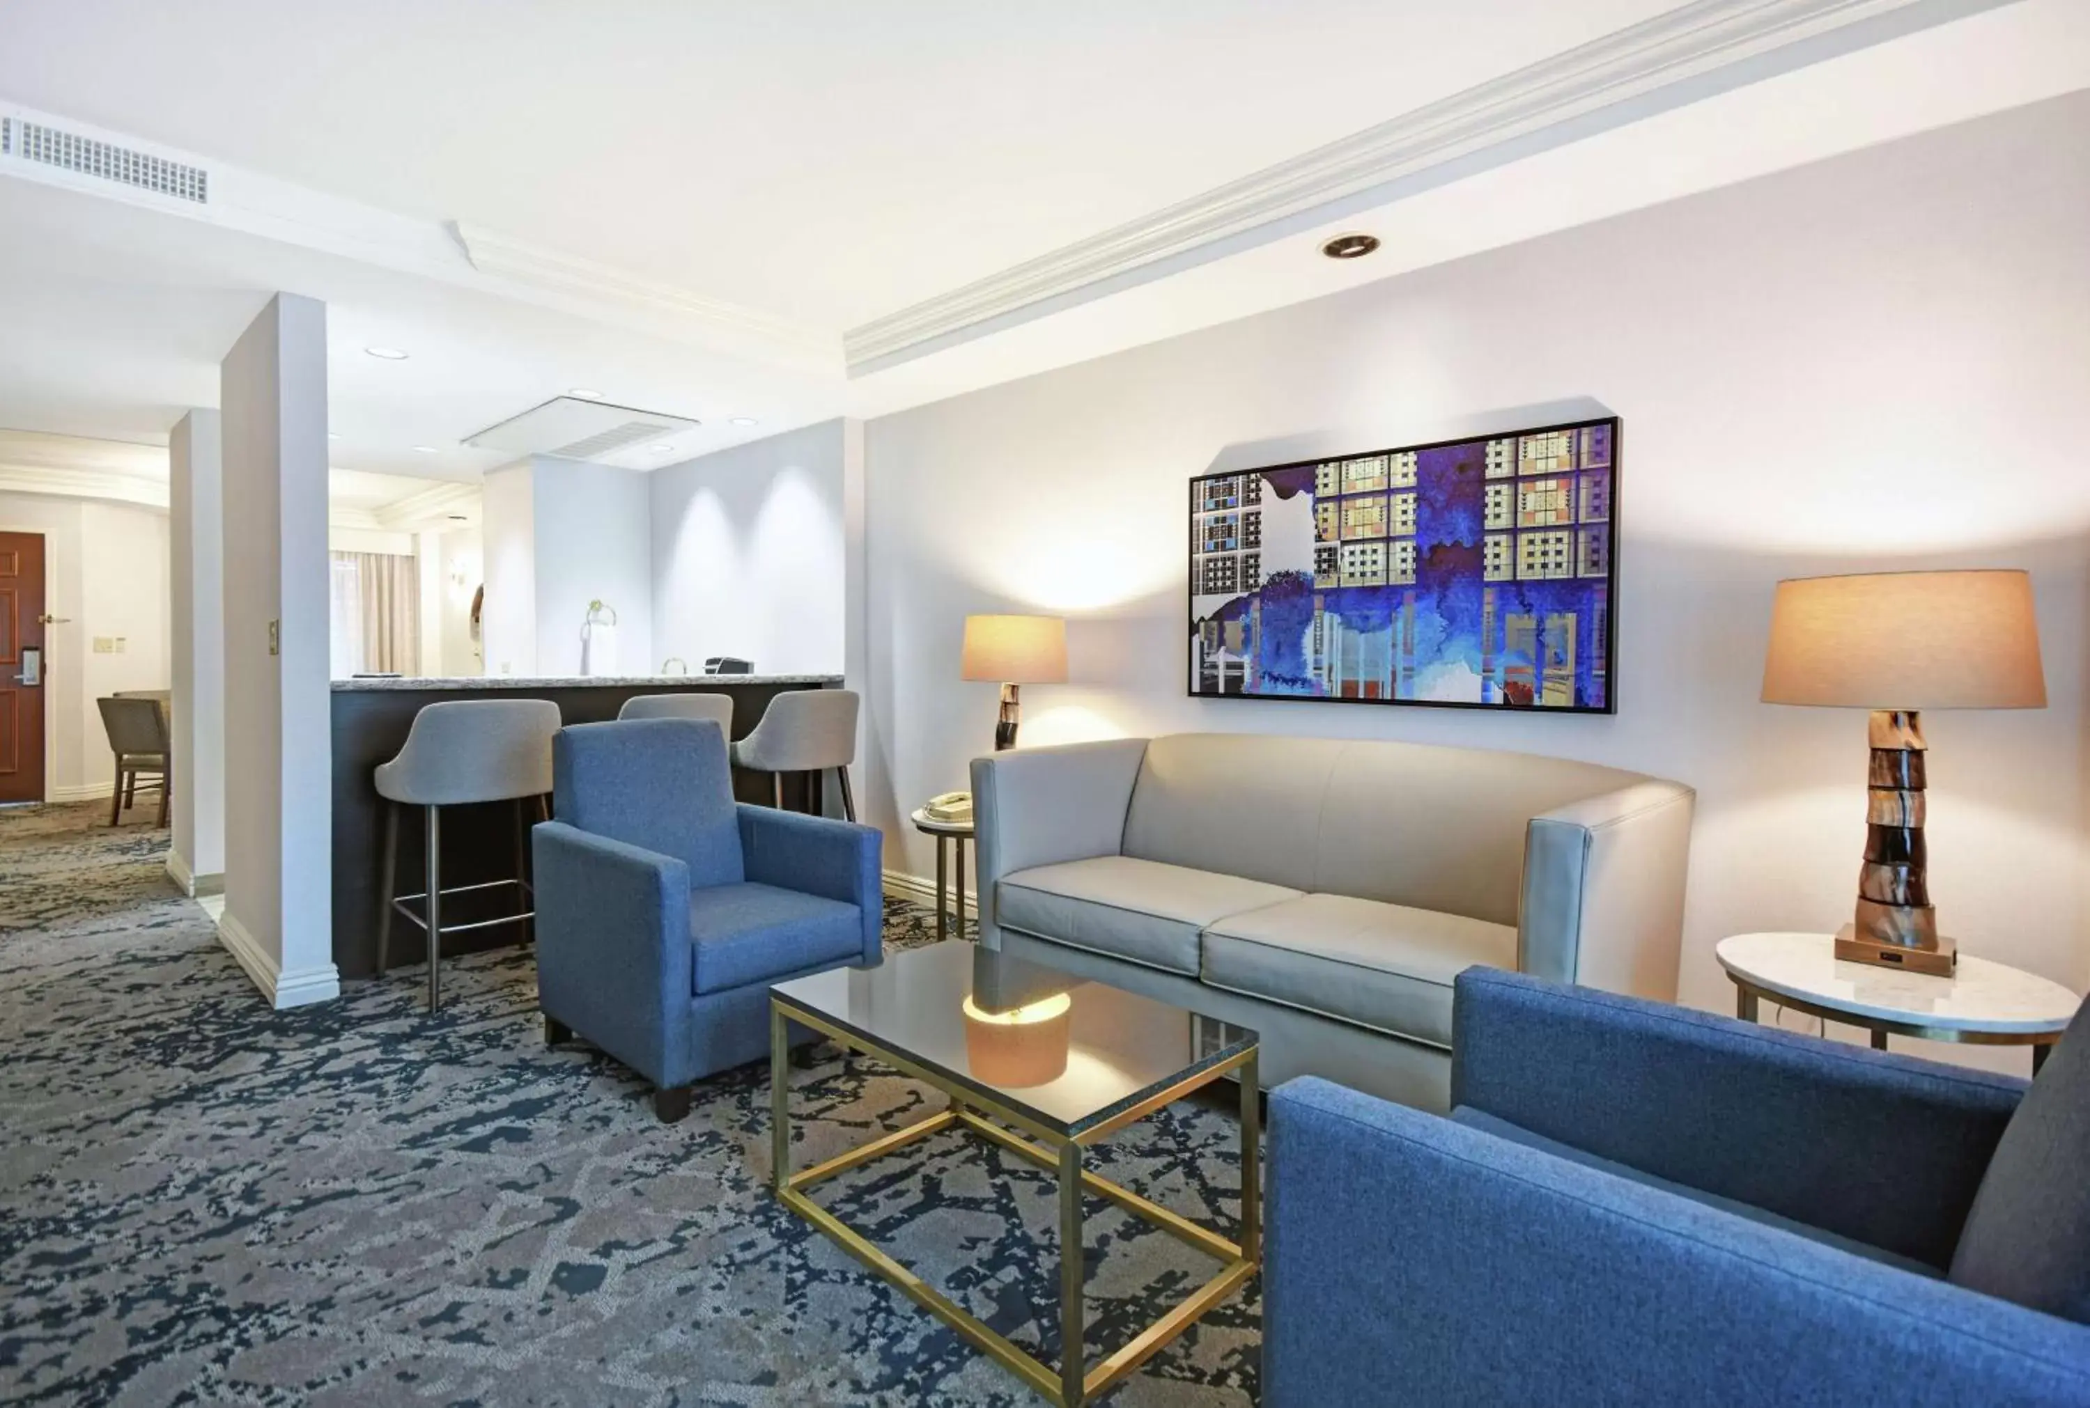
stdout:
MULTIPOLYGON (((1001 946, 995 884, 1035 865, 1114 856, 1147 740, 1018 748, 972 760, 980 942, 1001 946)), ((963 896, 959 896, 963 900, 963 896)))

